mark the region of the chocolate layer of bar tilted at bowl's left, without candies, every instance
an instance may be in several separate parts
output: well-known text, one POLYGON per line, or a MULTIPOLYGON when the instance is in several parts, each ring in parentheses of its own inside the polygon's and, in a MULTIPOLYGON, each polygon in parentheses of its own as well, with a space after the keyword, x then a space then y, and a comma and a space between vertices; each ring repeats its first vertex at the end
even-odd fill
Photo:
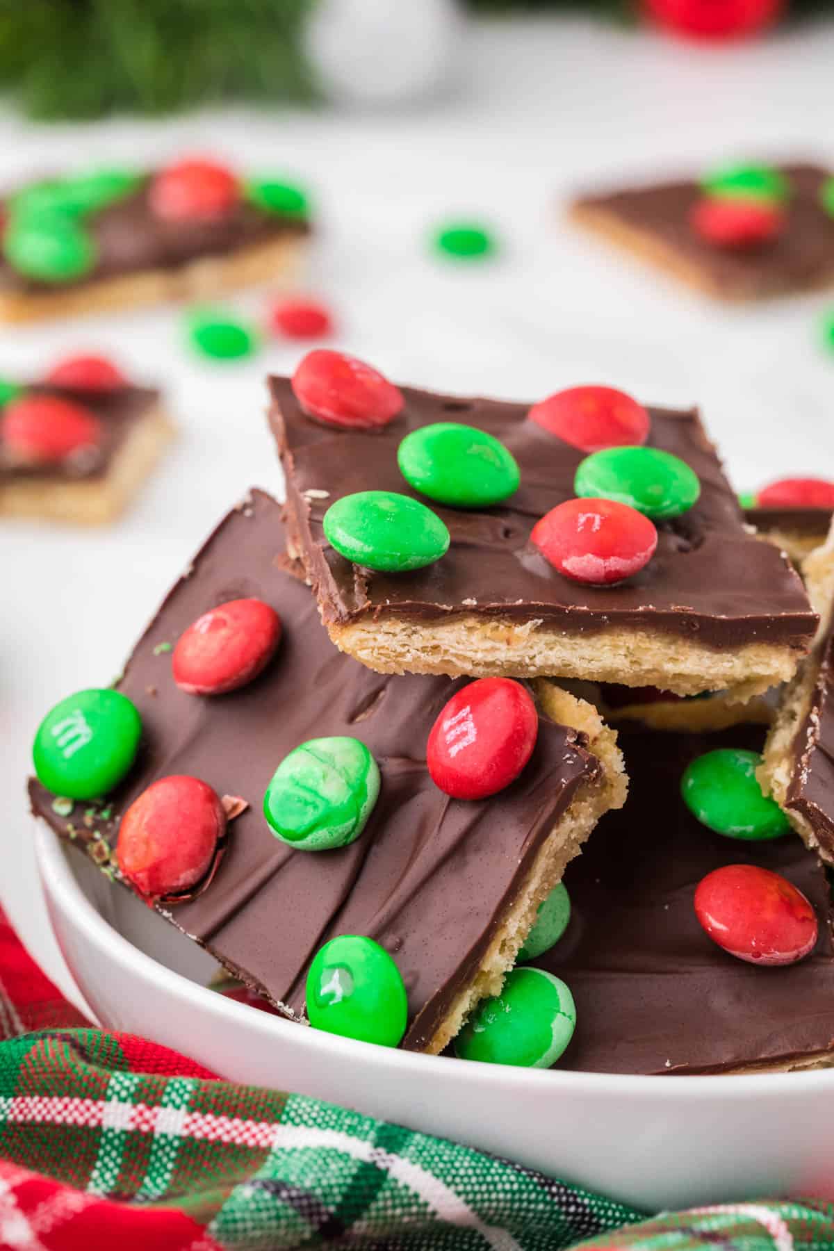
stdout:
POLYGON ((129 778, 108 796, 104 814, 99 806, 88 812, 76 804, 59 817, 36 782, 30 783, 33 808, 106 863, 121 813, 160 776, 194 774, 221 796, 241 797, 249 808, 230 827, 214 882, 193 902, 171 908, 174 922, 295 1013, 323 942, 339 933, 375 938, 405 980, 410 1027, 404 1045, 420 1050, 476 972, 544 839, 578 791, 599 777, 599 766, 584 736, 541 719, 529 764, 499 797, 466 803, 443 794, 429 777, 425 742, 465 681, 380 677, 339 653, 309 588, 280 567, 283 545, 279 505, 260 492, 221 523, 165 599, 119 682, 144 724, 129 778), (281 615, 275 661, 235 693, 184 694, 171 678, 170 644, 209 608, 248 595, 281 615), (291 748, 330 734, 368 744, 381 771, 380 798, 350 847, 293 851, 264 821, 264 792, 291 748))

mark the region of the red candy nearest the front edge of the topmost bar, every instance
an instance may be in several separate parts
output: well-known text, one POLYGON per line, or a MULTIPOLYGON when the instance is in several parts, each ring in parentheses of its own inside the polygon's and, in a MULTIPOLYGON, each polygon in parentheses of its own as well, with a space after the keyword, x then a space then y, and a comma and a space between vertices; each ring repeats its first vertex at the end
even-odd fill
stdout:
POLYGON ((658 532, 614 499, 566 499, 535 523, 530 539, 565 578, 604 585, 639 573, 654 555, 658 532))

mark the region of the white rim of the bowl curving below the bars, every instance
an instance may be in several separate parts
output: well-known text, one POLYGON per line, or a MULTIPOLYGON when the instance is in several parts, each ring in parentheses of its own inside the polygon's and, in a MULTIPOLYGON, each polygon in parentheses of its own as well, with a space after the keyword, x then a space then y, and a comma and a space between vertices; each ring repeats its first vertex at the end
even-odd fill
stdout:
MULTIPOLYGON (((73 919, 76 929, 90 947, 99 952, 101 960, 118 965, 130 977, 161 983, 170 995, 180 997, 203 1012, 208 1011, 216 1020, 229 1022, 233 1026, 235 1023, 240 1026, 245 1020, 249 1030, 268 1038, 283 1038, 286 1031, 299 1030, 295 1022, 239 1003, 190 981, 135 947, 101 916, 86 897, 70 868, 69 848, 58 834, 40 821, 36 821, 35 826, 35 857, 48 901, 73 919), (245 1018, 241 1017, 241 1013, 246 1015, 245 1018)), ((49 914, 51 924, 51 911, 49 914)), ((80 987, 80 990, 84 993, 84 988, 80 987)), ((450 1076, 449 1058, 445 1056, 425 1056, 420 1052, 401 1051, 398 1047, 375 1046, 318 1030, 305 1028, 305 1035, 313 1055, 318 1056, 323 1063, 356 1061, 365 1065, 373 1061, 374 1066, 379 1068, 380 1077, 388 1075, 393 1080, 416 1075, 428 1080, 431 1080, 433 1076, 438 1080, 448 1080, 450 1076)), ((548 1090, 554 1095, 560 1090, 570 1088, 574 1095, 578 1091, 585 1091, 589 1097, 594 1098, 615 1095, 618 1098, 631 1098, 635 1102, 668 1101, 673 1092, 675 1098, 689 1102, 703 1100, 708 1095, 714 1097, 719 1093, 721 1101, 746 1101, 754 1097, 760 1098, 765 1092, 769 1097, 781 1098, 791 1092, 809 1096, 814 1091, 830 1093, 834 1090, 834 1067, 794 1073, 679 1075, 674 1078, 671 1091, 669 1080, 661 1073, 595 1073, 560 1071, 559 1068, 516 1068, 470 1060, 455 1060, 454 1071, 458 1080, 475 1086, 489 1087, 500 1077, 501 1085, 511 1088, 534 1087, 540 1093, 548 1090)))

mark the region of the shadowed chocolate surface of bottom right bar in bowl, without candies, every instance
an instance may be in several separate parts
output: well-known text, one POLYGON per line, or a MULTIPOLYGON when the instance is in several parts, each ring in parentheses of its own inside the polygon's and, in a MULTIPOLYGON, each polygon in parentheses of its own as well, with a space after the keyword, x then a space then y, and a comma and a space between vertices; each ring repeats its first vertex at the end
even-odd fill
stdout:
POLYGON ((620 732, 629 798, 568 866, 570 926, 535 961, 563 977, 576 1001, 576 1033, 559 1068, 720 1072, 788 1065, 834 1046, 830 901, 815 857, 794 834, 760 843, 714 834, 680 798, 693 757, 720 746, 760 749, 761 737, 620 732), (760 864, 808 896, 820 923, 811 956, 759 968, 706 937, 693 896, 721 864, 760 864))

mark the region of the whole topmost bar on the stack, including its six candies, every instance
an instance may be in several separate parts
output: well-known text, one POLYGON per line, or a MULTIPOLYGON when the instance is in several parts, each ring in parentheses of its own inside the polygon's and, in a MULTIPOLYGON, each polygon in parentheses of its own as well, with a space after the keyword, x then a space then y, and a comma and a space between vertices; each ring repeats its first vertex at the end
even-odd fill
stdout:
POLYGON ((291 552, 378 672, 745 699, 808 651, 800 579, 745 529, 695 412, 400 392, 326 352, 270 388, 291 552))

